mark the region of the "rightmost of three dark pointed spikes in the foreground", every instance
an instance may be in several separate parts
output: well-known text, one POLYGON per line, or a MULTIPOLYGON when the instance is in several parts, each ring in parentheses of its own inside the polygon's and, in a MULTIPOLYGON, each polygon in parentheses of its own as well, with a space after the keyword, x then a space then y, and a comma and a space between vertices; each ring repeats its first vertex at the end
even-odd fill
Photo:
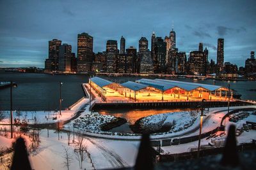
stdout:
POLYGON ((228 129, 228 136, 220 164, 232 167, 239 165, 239 155, 236 147, 236 125, 230 125, 228 129))

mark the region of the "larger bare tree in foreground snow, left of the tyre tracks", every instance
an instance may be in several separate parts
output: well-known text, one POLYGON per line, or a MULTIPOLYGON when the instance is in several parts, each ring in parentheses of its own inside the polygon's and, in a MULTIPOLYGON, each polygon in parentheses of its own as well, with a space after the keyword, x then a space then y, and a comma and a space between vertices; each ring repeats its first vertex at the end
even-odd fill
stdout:
POLYGON ((77 145, 75 146, 75 155, 76 155, 76 159, 79 162, 80 169, 82 169, 83 161, 86 157, 86 150, 87 150, 84 133, 76 132, 76 140, 77 140, 76 141, 77 145))

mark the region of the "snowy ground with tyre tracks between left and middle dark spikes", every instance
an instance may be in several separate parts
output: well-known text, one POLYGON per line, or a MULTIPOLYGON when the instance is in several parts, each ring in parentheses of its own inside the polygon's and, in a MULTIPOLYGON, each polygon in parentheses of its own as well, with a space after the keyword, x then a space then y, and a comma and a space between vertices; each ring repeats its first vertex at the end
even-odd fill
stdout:
MULTIPOLYGON (((68 146, 67 134, 61 133, 60 136, 61 139, 59 141, 58 134, 54 131, 49 131, 49 138, 47 138, 47 130, 44 129, 40 133, 40 147, 35 153, 29 155, 33 168, 36 170, 66 169, 63 167, 63 162, 65 161, 63 147, 66 147, 69 148, 70 156, 72 157, 70 169, 79 169, 79 162, 74 155, 75 145, 68 146)), ((72 139, 73 135, 70 137, 72 139)), ((136 141, 114 141, 88 137, 85 137, 85 143, 86 150, 90 153, 95 169, 133 166, 139 145, 139 142, 136 141)), ((92 168, 88 157, 83 162, 84 168, 92 168)))

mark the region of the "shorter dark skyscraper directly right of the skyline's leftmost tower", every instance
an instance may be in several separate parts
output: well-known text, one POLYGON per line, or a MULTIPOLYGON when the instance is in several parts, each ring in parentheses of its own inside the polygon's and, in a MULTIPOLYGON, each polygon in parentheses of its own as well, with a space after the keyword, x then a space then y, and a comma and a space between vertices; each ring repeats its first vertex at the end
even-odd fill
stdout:
POLYGON ((60 46, 59 71, 71 71, 72 46, 63 44, 60 46))

